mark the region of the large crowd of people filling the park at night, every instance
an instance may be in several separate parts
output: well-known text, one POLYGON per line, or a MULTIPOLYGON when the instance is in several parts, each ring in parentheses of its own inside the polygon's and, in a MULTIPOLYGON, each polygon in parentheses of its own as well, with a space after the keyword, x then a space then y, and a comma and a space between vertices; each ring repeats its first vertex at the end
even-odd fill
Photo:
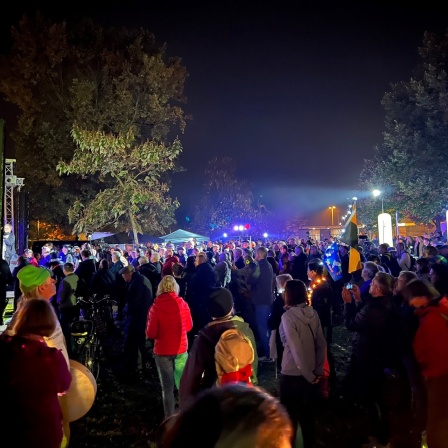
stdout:
MULTIPOLYGON (((220 393, 211 392, 217 383, 215 346, 224 331, 238 328, 255 353, 247 387, 257 389, 259 363, 276 363, 279 397, 270 405, 275 403, 279 419, 288 416, 291 430, 284 434, 291 446, 314 446, 320 399, 335 393, 368 410, 372 430, 366 446, 393 446, 385 385, 398 376, 415 411, 409 424, 421 426, 429 448, 446 447, 448 245, 428 236, 397 237, 395 247, 361 244, 362 267, 355 272, 348 271, 350 250, 335 238, 294 237, 144 247, 49 244, 39 254, 25 250, 19 257, 10 280, 14 316, 30 290, 33 298, 50 301, 68 359, 77 298, 111 296, 124 333, 126 378, 148 367, 146 342, 153 341, 168 422, 163 446, 180 443, 176 431, 190 431, 186 422, 204 412, 200 403, 218 406, 220 393), (333 280, 323 263, 333 244, 338 245, 340 280, 333 280), (352 352, 342 390, 336 390, 331 344, 333 328, 340 324, 352 335, 352 352)), ((3 345, 19 337, 15 320, 1 338, 3 345)), ((116 331, 113 324, 110 331, 116 331)), ((257 424, 270 426, 266 419, 257 424)), ((213 437, 216 443, 219 434, 213 437)))

